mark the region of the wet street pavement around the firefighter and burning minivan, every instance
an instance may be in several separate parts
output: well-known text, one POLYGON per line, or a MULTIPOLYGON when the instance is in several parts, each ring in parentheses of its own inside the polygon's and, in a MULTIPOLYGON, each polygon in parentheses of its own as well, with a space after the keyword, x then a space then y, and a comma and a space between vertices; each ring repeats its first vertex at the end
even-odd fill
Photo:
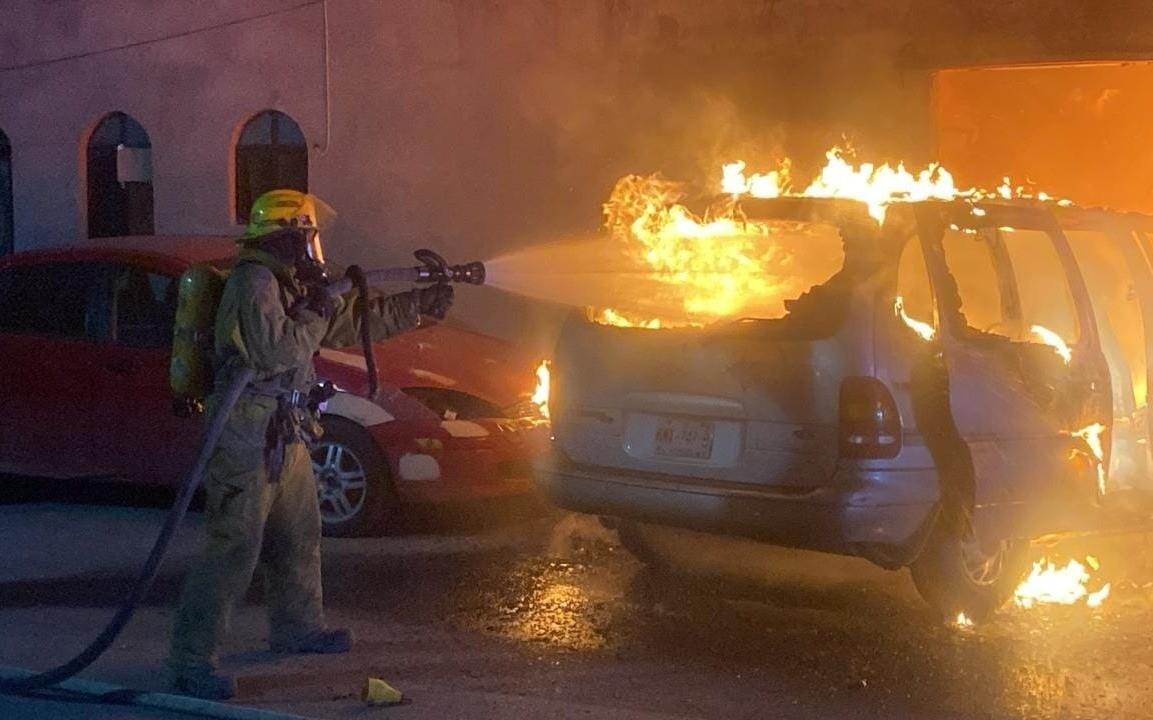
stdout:
MULTIPOLYGON (((86 639, 160 513, 60 500, 0 508, 0 540, 16 548, 0 573, 0 665, 59 659, 61 650, 17 637, 38 617, 51 618, 42 631, 70 638, 61 646, 86 639), (38 517, 59 528, 52 565, 38 517), (108 557, 69 554, 69 526, 89 537, 121 528, 138 542, 122 539, 108 557)), ((197 520, 120 654, 93 677, 148 684, 197 520)), ((251 675, 254 703, 318 718, 355 714, 353 678, 367 674, 412 691, 410 706, 387 711, 406 718, 1151 717, 1145 537, 1050 549, 1101 558, 1114 586, 1102 608, 1009 608, 979 628, 941 622, 904 572, 687 533, 656 539, 677 572, 647 569, 591 518, 535 502, 437 515, 393 538, 326 541, 330 620, 357 631, 357 653, 293 665, 253 650, 263 638, 257 588, 225 662, 251 675)))

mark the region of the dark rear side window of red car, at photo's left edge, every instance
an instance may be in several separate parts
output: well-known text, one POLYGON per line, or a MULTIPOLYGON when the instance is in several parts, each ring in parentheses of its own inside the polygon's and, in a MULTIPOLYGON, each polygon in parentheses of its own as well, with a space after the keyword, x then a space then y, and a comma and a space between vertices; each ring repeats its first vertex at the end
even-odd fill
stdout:
POLYGON ((0 331, 103 339, 101 267, 56 262, 0 270, 0 331))

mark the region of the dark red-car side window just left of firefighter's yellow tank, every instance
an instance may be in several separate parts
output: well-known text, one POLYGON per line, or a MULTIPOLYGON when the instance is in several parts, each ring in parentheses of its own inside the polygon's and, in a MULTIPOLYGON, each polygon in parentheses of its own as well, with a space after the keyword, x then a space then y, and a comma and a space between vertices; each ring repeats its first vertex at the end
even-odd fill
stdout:
POLYGON ((176 279, 137 265, 118 265, 112 284, 114 337, 131 347, 172 344, 176 279))

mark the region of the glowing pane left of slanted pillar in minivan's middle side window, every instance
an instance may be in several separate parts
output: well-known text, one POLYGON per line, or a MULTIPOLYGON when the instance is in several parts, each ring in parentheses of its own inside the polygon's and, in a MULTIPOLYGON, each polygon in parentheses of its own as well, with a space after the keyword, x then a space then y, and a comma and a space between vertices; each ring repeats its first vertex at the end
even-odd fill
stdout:
POLYGON ((997 275, 989 235, 948 230, 941 239, 945 265, 957 284, 960 315, 971 331, 1009 336, 1003 280, 997 275))

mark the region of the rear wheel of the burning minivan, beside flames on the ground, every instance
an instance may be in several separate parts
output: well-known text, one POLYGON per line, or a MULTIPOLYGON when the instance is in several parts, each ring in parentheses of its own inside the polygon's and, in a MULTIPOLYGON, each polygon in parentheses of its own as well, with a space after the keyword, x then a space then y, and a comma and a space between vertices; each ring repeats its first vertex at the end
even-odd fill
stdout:
POLYGON ((910 571, 917 591, 943 618, 964 613, 984 622, 1012 598, 1028 560, 1027 540, 1002 540, 995 549, 984 549, 971 522, 942 516, 910 571))

